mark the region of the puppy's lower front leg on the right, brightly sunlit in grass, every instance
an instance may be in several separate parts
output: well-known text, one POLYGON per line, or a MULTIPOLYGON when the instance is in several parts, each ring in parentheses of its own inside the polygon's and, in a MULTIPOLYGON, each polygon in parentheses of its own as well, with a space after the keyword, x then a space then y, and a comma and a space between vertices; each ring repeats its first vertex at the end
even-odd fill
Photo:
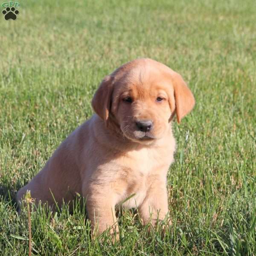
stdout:
POLYGON ((152 182, 138 210, 144 225, 151 222, 154 227, 157 220, 166 218, 168 214, 168 196, 166 183, 163 180, 156 179, 152 182))

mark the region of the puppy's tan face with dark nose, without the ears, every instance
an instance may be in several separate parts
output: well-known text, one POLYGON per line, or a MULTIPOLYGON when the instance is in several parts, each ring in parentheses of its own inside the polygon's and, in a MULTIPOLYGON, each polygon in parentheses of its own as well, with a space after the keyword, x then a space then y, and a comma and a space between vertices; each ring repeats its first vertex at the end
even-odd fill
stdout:
POLYGON ((124 136, 145 144, 163 137, 172 115, 168 77, 150 67, 137 67, 114 83, 111 113, 124 136))

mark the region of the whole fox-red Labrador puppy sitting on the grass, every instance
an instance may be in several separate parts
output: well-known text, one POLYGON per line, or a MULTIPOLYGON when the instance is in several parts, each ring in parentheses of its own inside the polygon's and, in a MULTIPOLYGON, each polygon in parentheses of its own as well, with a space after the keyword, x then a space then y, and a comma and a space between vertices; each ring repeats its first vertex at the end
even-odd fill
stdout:
POLYGON ((168 214, 166 176, 173 162, 177 122, 195 99, 182 77, 157 61, 141 58, 106 76, 92 106, 96 114, 64 140, 41 172, 17 192, 35 202, 86 198, 92 228, 117 228, 115 206, 138 208, 143 224, 168 214))

